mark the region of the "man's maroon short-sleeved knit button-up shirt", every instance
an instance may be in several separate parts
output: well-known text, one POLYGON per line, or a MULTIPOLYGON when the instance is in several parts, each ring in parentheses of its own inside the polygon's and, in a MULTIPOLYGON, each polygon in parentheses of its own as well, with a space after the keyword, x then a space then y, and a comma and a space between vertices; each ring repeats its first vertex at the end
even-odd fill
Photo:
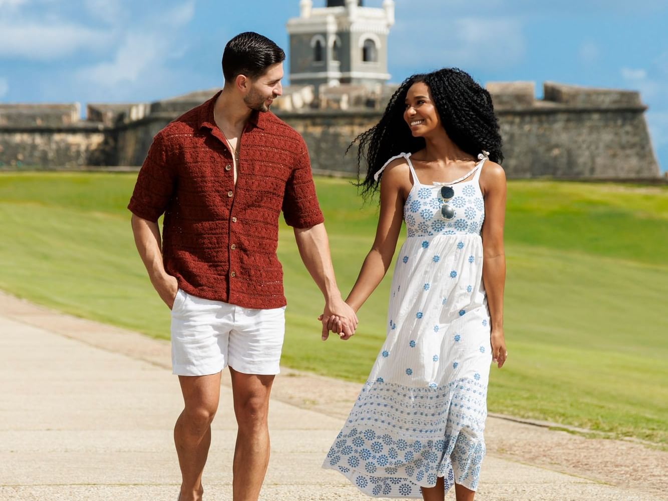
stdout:
POLYGON ((216 126, 220 92, 158 132, 128 208, 157 221, 178 287, 246 308, 285 306, 276 255, 279 214, 295 228, 323 222, 306 144, 271 112, 254 113, 232 154, 216 126))

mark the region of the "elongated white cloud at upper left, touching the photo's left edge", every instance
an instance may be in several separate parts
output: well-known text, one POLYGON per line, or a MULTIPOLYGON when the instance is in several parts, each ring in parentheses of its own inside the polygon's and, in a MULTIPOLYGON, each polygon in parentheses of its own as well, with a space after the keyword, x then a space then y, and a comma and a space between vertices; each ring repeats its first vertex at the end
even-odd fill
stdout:
POLYGON ((38 61, 96 49, 110 42, 110 33, 71 23, 1 23, 0 57, 38 61))

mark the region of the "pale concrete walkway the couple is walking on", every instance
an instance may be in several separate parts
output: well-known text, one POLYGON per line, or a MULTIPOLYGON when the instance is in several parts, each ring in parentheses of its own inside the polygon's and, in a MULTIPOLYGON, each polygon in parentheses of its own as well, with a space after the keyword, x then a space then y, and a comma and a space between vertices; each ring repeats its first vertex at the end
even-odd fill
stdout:
MULTIPOLYGON (((163 341, 0 295, 0 500, 174 501, 172 426, 182 401, 167 356, 163 341)), ((277 395, 286 379, 277 378, 277 395)), ((232 499, 231 402, 223 385, 204 472, 207 501, 232 499)), ((261 500, 369 499, 320 468, 343 418, 273 399, 270 422, 261 500)), ((476 500, 494 501, 665 499, 495 454, 478 492, 476 500)))

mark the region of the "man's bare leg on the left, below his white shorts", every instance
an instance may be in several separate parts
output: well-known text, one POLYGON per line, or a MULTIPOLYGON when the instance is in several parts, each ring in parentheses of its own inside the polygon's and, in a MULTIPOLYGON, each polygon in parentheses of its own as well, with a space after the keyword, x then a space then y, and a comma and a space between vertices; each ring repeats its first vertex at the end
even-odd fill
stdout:
POLYGON ((220 399, 220 372, 204 376, 179 376, 184 409, 174 426, 174 444, 181 467, 179 501, 202 499, 202 472, 211 444, 211 422, 220 399))

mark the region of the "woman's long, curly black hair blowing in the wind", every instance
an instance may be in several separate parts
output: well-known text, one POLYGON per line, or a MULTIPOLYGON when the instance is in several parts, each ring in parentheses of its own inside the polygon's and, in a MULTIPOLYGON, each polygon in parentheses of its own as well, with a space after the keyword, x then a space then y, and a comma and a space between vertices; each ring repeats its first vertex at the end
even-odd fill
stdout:
POLYGON ((399 153, 415 153, 425 147, 424 138, 414 138, 403 120, 408 90, 420 81, 430 88, 441 123, 459 148, 474 158, 485 150, 493 162, 503 161, 501 135, 490 93, 458 68, 418 73, 401 83, 387 103, 380 122, 351 144, 359 142, 358 178, 361 178, 362 164, 367 166, 366 178, 357 184, 365 198, 378 190, 380 180, 376 181, 373 176, 388 158, 399 153))

